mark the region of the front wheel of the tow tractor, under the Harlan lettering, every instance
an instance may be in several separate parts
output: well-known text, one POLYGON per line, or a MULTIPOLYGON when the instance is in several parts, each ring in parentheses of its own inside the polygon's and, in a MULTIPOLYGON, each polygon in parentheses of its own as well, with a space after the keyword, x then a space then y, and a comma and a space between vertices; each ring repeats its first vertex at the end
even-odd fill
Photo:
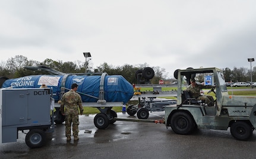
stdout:
POLYGON ((234 138, 242 141, 246 141, 247 139, 249 139, 252 136, 252 131, 252 127, 243 121, 234 122, 230 126, 231 135, 234 138))

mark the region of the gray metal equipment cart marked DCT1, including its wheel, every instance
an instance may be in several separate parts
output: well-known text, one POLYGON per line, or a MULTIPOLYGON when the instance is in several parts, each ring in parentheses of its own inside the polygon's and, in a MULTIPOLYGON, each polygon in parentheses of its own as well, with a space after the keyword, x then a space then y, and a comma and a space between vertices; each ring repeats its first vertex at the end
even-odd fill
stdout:
POLYGON ((29 129, 42 134, 42 141, 34 141, 38 137, 33 139, 34 133, 28 133, 26 144, 29 147, 42 146, 44 133, 52 125, 50 89, 0 89, 0 104, 0 143, 16 142, 18 131, 29 129))

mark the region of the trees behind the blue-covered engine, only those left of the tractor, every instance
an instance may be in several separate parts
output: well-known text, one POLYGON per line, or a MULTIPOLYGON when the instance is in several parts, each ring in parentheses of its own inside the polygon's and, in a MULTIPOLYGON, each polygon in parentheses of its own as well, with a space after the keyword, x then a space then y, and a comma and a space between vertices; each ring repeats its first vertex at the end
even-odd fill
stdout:
MULTIPOLYGON (((93 69, 90 63, 82 61, 67 61, 45 59, 44 61, 29 60, 27 57, 18 55, 11 57, 7 61, 0 63, 0 76, 7 77, 8 79, 14 79, 23 76, 35 75, 35 74, 48 74, 46 72, 33 71, 25 69, 24 66, 48 66, 52 69, 58 70, 63 73, 85 73, 87 64, 87 73, 108 73, 109 75, 122 75, 130 83, 137 83, 135 72, 144 67, 149 67, 147 63, 137 64, 136 66, 130 64, 124 64, 124 66, 113 67, 108 63, 100 64, 96 69, 93 69)), ((151 83, 158 83, 160 79, 165 79, 165 69, 159 66, 152 67, 154 70, 154 77, 151 79, 151 83)))

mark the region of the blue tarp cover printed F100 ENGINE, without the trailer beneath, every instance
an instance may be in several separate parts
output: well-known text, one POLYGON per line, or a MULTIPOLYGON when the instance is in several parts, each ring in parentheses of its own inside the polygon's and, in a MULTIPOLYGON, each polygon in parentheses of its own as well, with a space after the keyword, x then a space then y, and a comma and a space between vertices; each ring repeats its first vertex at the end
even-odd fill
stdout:
MULTIPOLYGON (((80 93, 83 102, 97 102, 99 98, 100 91, 100 78, 101 76, 77 76, 70 75, 67 76, 65 81, 65 86, 61 86, 62 79, 64 76, 58 75, 34 75, 34 76, 25 76, 17 79, 8 79, 5 80, 2 87, 13 87, 13 88, 38 88, 43 83, 48 87, 53 89, 53 98, 55 101, 59 100, 59 95, 61 93, 61 87, 71 89, 72 83, 77 83, 78 90, 80 93), (90 96, 86 96, 86 95, 90 96)), ((104 99, 107 102, 124 102, 127 103, 129 99, 132 98, 134 89, 124 77, 121 75, 105 76, 104 79, 104 99)), ((68 90, 66 90, 67 92, 68 90)))

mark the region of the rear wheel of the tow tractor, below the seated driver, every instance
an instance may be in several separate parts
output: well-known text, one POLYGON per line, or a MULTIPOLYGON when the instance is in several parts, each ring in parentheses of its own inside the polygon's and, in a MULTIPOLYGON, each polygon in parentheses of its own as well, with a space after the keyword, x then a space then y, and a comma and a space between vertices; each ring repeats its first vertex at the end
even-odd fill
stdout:
POLYGON ((195 124, 190 115, 186 112, 176 112, 171 118, 171 127, 176 134, 186 135, 191 133, 195 124))

